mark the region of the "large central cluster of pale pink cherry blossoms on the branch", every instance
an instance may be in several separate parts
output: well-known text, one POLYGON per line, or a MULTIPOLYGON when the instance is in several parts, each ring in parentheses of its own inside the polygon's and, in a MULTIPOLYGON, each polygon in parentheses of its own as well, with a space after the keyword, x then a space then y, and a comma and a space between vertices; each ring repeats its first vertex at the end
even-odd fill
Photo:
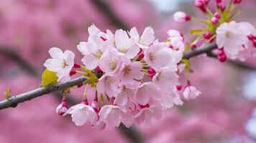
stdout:
MULTIPOLYGON (((68 109, 64 96, 57 114, 71 114, 78 126, 88 123, 104 129, 105 124, 118 127, 122 123, 130 127, 150 124, 152 119, 160 119, 163 110, 183 104, 178 93, 182 89, 178 74, 184 68, 178 64, 185 46, 179 31, 168 31, 165 42, 155 39, 150 26, 142 34, 135 27, 113 34, 91 25, 88 34, 88 41, 77 46, 83 54, 83 65, 74 64, 72 51, 49 50, 52 59, 44 65, 56 73, 58 82, 67 81, 73 74, 88 78, 82 102, 68 109), (87 98, 89 87, 95 90, 93 101, 87 98)), ((199 94, 196 87, 188 84, 183 99, 195 99, 199 94)))

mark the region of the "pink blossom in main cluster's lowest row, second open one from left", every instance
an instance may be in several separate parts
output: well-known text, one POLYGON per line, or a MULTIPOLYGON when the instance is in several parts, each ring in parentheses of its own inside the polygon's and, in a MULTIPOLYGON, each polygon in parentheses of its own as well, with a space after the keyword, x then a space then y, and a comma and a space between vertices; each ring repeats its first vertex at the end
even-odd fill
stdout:
POLYGON ((113 127, 119 127, 121 122, 126 127, 130 127, 132 126, 134 118, 126 109, 114 105, 105 105, 102 107, 99 112, 99 117, 105 123, 110 124, 113 127))

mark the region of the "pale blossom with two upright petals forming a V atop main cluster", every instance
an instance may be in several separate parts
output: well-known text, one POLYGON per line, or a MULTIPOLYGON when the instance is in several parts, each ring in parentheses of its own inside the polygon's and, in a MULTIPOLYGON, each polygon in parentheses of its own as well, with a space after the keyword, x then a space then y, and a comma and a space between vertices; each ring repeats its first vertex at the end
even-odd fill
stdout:
POLYGON ((141 36, 138 33, 136 27, 133 27, 129 31, 129 36, 131 36, 132 39, 136 41, 137 45, 140 46, 140 48, 142 49, 145 49, 148 46, 150 46, 155 40, 154 30, 150 26, 147 26, 144 29, 141 36))

